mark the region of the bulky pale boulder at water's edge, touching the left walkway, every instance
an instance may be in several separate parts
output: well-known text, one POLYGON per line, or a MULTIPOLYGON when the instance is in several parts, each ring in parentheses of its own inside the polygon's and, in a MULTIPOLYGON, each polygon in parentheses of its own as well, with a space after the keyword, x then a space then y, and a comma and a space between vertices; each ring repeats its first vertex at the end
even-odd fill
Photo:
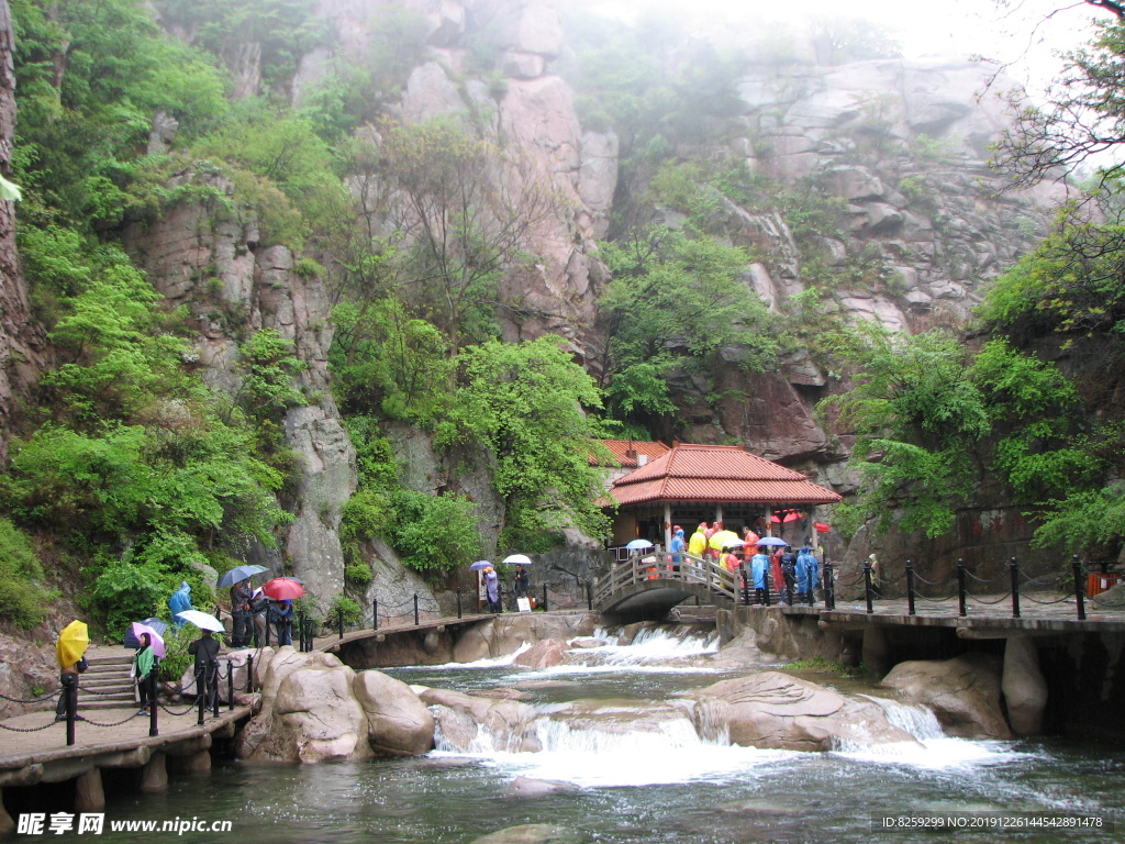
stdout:
POLYGON ((238 755, 251 762, 322 762, 371 756, 356 672, 332 654, 290 646, 270 661, 262 709, 242 733, 238 755))

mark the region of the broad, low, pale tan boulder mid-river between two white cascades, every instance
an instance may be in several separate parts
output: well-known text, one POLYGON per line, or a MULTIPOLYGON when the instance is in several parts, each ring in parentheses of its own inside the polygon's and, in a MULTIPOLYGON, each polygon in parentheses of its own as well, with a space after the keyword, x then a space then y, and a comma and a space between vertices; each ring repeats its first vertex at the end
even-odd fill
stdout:
POLYGON ((830 751, 872 744, 921 745, 894 727, 882 707, 775 671, 723 680, 693 692, 695 728, 704 738, 726 730, 731 744, 786 751, 830 751))

